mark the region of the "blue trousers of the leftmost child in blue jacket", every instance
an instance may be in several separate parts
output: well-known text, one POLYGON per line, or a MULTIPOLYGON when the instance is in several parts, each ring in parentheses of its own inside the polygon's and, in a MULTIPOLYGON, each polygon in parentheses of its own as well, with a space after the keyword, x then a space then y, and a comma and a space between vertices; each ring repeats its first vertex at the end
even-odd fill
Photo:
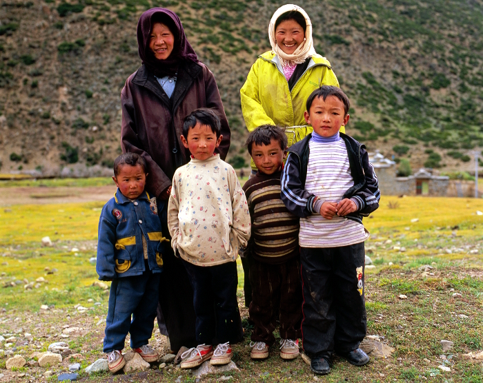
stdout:
POLYGON ((159 276, 160 273, 151 273, 146 262, 146 271, 141 276, 112 281, 103 347, 105 353, 124 349, 128 333, 133 349, 148 344, 156 318, 159 276))

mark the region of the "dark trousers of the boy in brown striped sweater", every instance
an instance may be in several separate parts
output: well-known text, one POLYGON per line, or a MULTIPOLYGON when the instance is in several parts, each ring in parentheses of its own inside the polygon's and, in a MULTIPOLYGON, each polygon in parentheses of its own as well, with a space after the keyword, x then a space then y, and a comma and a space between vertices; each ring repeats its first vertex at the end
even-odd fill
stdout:
POLYGON ((255 324, 251 340, 271 346, 275 342, 273 331, 277 319, 280 320, 280 338, 296 340, 302 336, 302 286, 299 272, 298 256, 280 265, 250 259, 253 300, 249 313, 255 324))

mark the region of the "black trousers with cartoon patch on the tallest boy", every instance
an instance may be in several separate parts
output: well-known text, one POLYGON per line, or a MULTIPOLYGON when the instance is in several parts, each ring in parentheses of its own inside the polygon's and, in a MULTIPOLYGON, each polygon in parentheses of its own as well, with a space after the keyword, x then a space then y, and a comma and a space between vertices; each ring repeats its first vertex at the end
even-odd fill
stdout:
POLYGON ((359 347, 366 336, 364 242, 301 247, 302 341, 307 355, 330 359, 359 347))

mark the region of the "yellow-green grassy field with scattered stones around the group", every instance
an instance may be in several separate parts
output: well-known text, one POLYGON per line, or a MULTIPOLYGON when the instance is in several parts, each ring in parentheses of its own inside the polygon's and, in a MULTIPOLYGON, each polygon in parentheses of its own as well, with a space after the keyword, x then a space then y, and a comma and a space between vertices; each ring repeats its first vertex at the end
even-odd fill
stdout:
MULTIPOLYGON (((23 381, 21 375, 29 374, 37 381, 46 369, 6 371, 5 351, 15 347, 14 353, 28 359, 33 351, 63 340, 60 334, 66 326, 81 329, 66 341, 72 351, 81 353, 83 366, 102 357, 108 295, 92 286, 97 274, 89 261, 96 253, 101 207, 101 203, 14 205, 0 210, 0 283, 4 287, 0 289, 0 334, 4 338, 8 338, 5 334, 17 334, 17 344, 28 338, 22 334, 31 334, 26 345, 3 344, 0 373, 6 373, 9 380, 23 381), (53 247, 41 247, 44 236, 50 237, 53 247), (25 287, 28 284, 31 288, 25 287), (41 310, 42 304, 51 309, 41 310), (88 310, 79 313, 75 304, 88 310)), ((386 359, 373 358, 362 369, 336 359, 333 372, 324 380, 483 381, 481 361, 463 356, 483 349, 483 216, 476 211, 483 211, 483 200, 385 197, 380 209, 364 220, 371 231, 366 253, 375 264, 375 268, 366 269, 368 334, 383 335, 395 352, 386 359), (454 298, 455 292, 461 298, 454 298), (401 294, 407 299, 398 298, 401 294), (455 343, 451 351, 442 351, 443 339, 455 343), (442 371, 440 365, 449 366, 451 371, 442 371)), ((240 303, 242 274, 239 267, 240 303)), ((241 312, 249 333, 248 312, 243 307, 241 312)), ((160 350, 163 338, 159 332, 152 338, 160 350)), ((233 375, 235 381, 315 379, 302 359, 282 362, 276 346, 269 360, 252 362, 249 342, 247 336, 235 346, 234 360, 240 371, 226 374, 233 375)), ((73 361, 66 359, 52 371, 65 372, 73 361)), ((112 380, 108 375, 87 377, 81 372, 80 376, 92 382, 112 380)), ((182 382, 195 382, 189 373, 176 369, 153 369, 141 375, 126 375, 126 379, 174 382, 179 376, 182 382)), ((51 379, 57 381, 55 375, 51 379)))

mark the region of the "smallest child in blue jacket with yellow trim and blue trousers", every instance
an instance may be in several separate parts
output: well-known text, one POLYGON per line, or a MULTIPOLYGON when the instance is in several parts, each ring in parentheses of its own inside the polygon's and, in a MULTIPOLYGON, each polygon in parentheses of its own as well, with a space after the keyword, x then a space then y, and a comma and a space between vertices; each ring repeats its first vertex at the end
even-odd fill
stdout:
POLYGON ((169 245, 156 200, 144 191, 146 176, 146 161, 138 154, 117 157, 112 179, 118 189, 99 219, 96 271, 99 280, 112 280, 103 346, 112 373, 126 364, 121 351, 128 332, 133 351, 146 362, 159 358, 148 340, 156 318, 162 253, 169 245))

